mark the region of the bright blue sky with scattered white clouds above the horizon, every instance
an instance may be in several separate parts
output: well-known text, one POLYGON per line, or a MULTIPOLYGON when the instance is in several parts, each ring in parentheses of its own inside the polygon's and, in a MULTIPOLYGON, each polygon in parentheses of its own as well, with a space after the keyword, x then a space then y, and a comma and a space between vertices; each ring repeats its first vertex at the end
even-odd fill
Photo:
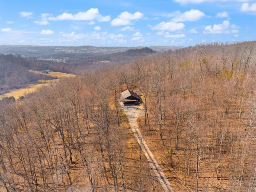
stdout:
POLYGON ((250 0, 0 0, 0 44, 194 46, 255 33, 250 0))

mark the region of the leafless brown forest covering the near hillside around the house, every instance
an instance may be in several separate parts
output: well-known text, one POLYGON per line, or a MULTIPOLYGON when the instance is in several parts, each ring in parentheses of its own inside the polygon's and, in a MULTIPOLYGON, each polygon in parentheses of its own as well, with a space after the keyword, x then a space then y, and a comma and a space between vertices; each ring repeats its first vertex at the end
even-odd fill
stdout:
POLYGON ((176 192, 256 191, 256 42, 212 43, 64 78, 0 103, 0 191, 161 192, 118 93, 176 192))

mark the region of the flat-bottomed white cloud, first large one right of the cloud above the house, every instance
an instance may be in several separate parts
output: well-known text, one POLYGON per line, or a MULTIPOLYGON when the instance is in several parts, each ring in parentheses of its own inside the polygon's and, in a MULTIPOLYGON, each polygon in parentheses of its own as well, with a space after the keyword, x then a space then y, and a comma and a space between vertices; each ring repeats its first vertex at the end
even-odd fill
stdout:
POLYGON ((173 22, 197 21, 200 20, 200 18, 202 18, 203 16, 205 16, 204 12, 194 9, 191 9, 190 11, 186 11, 184 13, 177 11, 174 12, 172 15, 175 16, 172 19, 173 22))

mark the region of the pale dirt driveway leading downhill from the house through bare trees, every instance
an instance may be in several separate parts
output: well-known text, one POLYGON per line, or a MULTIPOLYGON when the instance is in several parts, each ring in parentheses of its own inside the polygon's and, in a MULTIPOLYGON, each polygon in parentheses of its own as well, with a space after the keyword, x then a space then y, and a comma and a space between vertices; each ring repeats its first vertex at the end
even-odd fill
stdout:
POLYGON ((122 105, 122 108, 129 120, 130 127, 134 133, 134 136, 135 136, 138 144, 142 147, 142 151, 144 152, 146 158, 148 159, 148 163, 150 164, 150 167, 156 174, 158 181, 162 185, 162 188, 164 189, 165 192, 174 192, 174 190, 172 189, 172 187, 170 185, 170 182, 168 181, 164 172, 162 171, 162 169, 160 168, 156 159, 154 158, 154 155, 148 148, 148 145, 146 144, 146 142, 140 132, 140 129, 138 128, 137 119, 138 119, 138 117, 143 115, 143 111, 144 111, 143 106, 133 106, 133 105, 124 106, 124 105, 122 105))

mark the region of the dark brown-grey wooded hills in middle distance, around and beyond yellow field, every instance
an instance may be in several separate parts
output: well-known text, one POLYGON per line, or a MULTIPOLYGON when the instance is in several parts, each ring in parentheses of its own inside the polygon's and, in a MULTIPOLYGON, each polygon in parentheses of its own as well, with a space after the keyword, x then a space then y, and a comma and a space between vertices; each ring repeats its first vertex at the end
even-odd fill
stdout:
POLYGON ((86 71, 107 68, 116 64, 116 62, 128 62, 139 56, 155 53, 150 48, 140 48, 115 54, 94 54, 90 58, 66 59, 65 62, 56 62, 54 59, 40 60, 38 58, 24 58, 20 55, 0 54, 0 94, 16 88, 26 87, 28 84, 37 83, 38 80, 52 78, 43 74, 35 74, 28 71, 28 69, 39 71, 49 69, 81 75, 86 71), (100 62, 103 60, 108 60, 108 63, 100 62))

